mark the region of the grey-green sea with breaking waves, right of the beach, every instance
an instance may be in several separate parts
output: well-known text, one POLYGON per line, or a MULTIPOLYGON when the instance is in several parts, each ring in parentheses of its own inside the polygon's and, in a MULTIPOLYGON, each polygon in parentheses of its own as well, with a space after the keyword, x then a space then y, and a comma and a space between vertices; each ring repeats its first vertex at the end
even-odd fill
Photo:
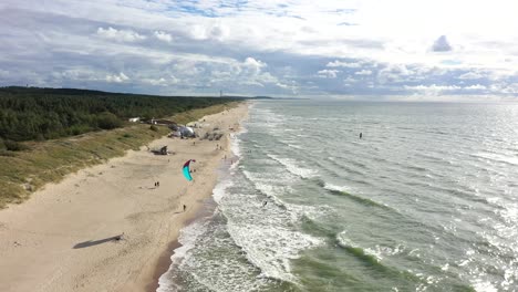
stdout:
POLYGON ((261 100, 231 138, 158 292, 518 291, 517 104, 261 100))

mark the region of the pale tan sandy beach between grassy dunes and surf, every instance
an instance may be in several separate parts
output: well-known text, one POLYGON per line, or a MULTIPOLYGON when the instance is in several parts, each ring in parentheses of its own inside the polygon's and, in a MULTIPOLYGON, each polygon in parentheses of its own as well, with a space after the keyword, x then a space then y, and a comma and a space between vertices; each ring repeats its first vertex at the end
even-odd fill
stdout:
POLYGON ((164 137, 148 146, 174 154, 142 147, 0 210, 0 291, 155 290, 179 230, 213 194, 218 166, 230 163, 229 136, 247 113, 241 103, 204 117, 198 133, 219 127, 220 140, 164 137), (194 181, 182 174, 188 159, 194 181))

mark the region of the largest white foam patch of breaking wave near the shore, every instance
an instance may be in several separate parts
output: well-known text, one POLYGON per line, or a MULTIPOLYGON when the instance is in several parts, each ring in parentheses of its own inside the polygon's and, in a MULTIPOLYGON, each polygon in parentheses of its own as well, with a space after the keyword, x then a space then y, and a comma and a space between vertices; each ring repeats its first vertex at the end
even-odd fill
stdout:
POLYGON ((291 189, 271 184, 278 179, 274 175, 242 173, 261 194, 232 194, 224 198, 220 209, 227 217, 227 231, 262 277, 297 283, 290 261, 302 250, 324 242, 296 228, 302 216, 317 213, 317 208, 282 202, 278 196, 291 189), (263 207, 262 194, 274 205, 263 207))

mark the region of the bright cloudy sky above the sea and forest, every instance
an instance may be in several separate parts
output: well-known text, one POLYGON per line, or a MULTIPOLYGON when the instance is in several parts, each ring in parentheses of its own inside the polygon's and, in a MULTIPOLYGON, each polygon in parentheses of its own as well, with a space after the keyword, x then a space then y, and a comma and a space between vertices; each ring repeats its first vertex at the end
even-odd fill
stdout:
POLYGON ((516 101, 516 0, 2 0, 0 86, 516 101))

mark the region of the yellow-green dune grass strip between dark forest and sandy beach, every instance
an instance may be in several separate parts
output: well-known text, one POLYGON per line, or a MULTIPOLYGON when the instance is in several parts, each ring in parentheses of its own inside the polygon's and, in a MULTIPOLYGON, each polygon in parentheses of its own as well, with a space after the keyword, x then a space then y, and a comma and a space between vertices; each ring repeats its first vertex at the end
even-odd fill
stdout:
MULTIPOLYGON (((193 109, 172 116, 178 124, 187 124, 205 115, 237 106, 238 102, 193 109)), ((94 132, 46 142, 27 142, 28 150, 0 153, 0 208, 20 204, 49 182, 58 182, 68 174, 87 166, 123 156, 126 150, 169 133, 165 126, 152 131, 149 125, 128 125, 123 128, 94 132)))

